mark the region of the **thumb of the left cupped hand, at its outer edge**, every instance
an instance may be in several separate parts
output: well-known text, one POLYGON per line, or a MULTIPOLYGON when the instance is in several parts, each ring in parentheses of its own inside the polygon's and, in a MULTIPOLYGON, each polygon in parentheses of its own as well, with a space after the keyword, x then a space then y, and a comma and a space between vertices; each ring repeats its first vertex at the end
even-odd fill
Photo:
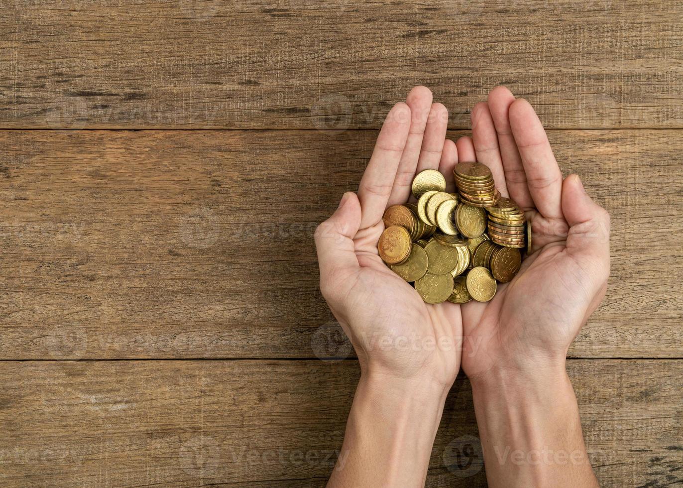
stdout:
POLYGON ((326 295, 325 290, 334 288, 339 271, 358 267, 353 238, 360 226, 361 202, 356 193, 347 191, 335 213, 316 229, 320 288, 323 295, 326 295))

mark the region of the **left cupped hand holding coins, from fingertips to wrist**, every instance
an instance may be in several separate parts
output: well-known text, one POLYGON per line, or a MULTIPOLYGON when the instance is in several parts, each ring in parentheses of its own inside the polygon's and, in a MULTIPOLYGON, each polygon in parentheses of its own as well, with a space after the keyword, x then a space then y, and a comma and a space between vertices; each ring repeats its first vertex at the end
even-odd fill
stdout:
POLYGON ((385 209, 408 202, 417 172, 438 169, 452 182, 458 153, 454 142, 445 140, 447 118, 443 105, 432 104, 430 90, 415 87, 406 103, 389 112, 358 194, 345 193, 337 211, 316 230, 320 290, 361 369, 436 381, 444 388, 460 368, 460 308, 424 303, 382 262, 377 243, 385 209))

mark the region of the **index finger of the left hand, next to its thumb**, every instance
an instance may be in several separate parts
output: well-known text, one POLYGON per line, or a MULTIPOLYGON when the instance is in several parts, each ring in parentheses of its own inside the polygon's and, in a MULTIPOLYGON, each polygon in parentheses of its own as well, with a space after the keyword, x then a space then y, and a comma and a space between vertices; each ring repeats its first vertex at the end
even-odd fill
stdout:
POLYGON ((358 199, 363 211, 361 229, 374 226, 382 219, 409 129, 410 108, 405 103, 397 103, 382 125, 358 188, 358 199))

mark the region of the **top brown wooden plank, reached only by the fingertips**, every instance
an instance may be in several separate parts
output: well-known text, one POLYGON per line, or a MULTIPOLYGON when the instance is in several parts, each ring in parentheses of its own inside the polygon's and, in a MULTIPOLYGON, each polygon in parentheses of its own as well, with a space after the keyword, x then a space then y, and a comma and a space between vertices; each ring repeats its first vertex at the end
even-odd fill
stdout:
POLYGON ((548 127, 683 127, 678 1, 16 1, 3 128, 377 128, 418 83, 451 128, 497 84, 548 127))

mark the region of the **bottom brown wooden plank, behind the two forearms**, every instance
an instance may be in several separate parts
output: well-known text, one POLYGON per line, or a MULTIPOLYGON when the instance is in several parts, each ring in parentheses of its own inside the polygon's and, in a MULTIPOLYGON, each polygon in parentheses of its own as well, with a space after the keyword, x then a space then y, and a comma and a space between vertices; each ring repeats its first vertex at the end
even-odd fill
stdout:
MULTIPOLYGON (((570 360, 600 486, 683 482, 678 360, 570 360), (656 378, 657 381, 652 381, 656 378)), ((0 483, 31 487, 320 487, 342 443, 357 363, 2 362, 0 483)), ((486 486, 459 378, 428 487, 486 486), (464 454, 464 452, 463 452, 464 454), (470 475, 470 476, 464 476, 470 475)))

